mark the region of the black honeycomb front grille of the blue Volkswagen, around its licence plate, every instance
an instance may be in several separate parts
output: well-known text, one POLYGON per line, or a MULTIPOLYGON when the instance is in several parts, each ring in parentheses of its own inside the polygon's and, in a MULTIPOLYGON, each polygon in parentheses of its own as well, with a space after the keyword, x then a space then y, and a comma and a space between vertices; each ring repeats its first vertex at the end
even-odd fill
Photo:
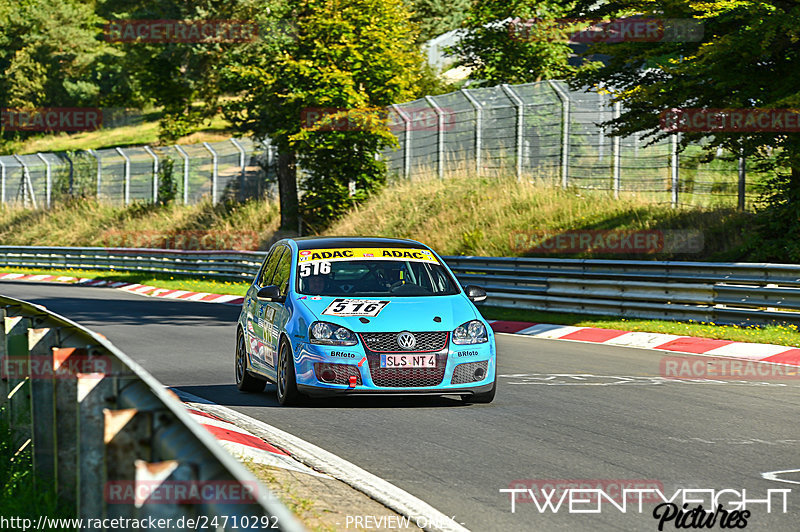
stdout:
POLYGON ((447 366, 447 342, 450 333, 446 331, 412 332, 417 344, 411 350, 404 350, 397 344, 397 335, 399 334, 399 332, 360 334, 361 341, 366 347, 369 371, 375 386, 421 388, 441 384, 447 366), (433 356, 436 357, 436 367, 382 368, 381 353, 435 353, 433 356))

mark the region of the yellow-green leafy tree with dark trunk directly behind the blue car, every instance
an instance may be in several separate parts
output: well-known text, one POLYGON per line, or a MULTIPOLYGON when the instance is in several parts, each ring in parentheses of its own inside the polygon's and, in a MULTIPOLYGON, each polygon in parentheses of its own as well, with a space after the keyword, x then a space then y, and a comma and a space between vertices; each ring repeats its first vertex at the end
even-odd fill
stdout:
POLYGON ((278 31, 230 57, 226 87, 237 98, 226 116, 277 145, 284 230, 297 228, 300 163, 300 208, 318 230, 383 181, 375 156, 393 137, 377 109, 411 97, 421 56, 401 0, 289 0, 281 15, 293 33, 278 31), (320 109, 335 112, 327 122, 303 122, 320 109), (330 127, 342 119, 346 127, 330 127))

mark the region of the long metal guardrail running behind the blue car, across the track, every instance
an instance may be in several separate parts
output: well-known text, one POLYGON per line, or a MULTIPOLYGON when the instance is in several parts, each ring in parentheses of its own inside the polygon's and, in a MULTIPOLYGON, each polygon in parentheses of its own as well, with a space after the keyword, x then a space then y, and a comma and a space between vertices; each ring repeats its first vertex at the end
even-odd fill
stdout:
MULTIPOLYGON (((0 246, 0 266, 198 274, 250 280, 255 251, 0 246)), ((714 323, 800 323, 800 265, 444 257, 488 306, 714 323)))

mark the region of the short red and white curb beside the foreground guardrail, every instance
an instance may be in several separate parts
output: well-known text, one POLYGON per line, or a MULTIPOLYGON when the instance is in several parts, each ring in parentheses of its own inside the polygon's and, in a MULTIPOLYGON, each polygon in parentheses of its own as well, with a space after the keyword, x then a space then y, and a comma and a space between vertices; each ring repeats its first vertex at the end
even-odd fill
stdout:
MULTIPOLYGON (((172 390, 180 397, 179 390, 172 390)), ((183 398, 182 398, 183 400, 183 398)), ((243 462, 253 462, 281 469, 289 469, 297 473, 305 473, 317 477, 330 478, 328 475, 314 471, 310 467, 298 462, 292 456, 270 445, 263 439, 255 436, 250 431, 237 426, 235 423, 204 412, 198 407, 199 403, 183 400, 189 415, 200 423, 204 429, 211 433, 225 450, 243 462)))

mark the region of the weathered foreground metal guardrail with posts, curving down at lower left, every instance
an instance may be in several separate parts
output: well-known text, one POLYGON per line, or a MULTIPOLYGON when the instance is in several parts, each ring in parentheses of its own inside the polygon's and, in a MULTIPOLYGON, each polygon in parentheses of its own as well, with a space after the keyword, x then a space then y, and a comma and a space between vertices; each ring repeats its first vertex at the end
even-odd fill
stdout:
POLYGON ((171 392, 104 337, 5 296, 0 323, 0 404, 14 448, 32 446, 37 480, 74 504, 83 529, 121 526, 88 519, 152 517, 172 519, 173 528, 200 519, 216 530, 303 530, 171 392))

